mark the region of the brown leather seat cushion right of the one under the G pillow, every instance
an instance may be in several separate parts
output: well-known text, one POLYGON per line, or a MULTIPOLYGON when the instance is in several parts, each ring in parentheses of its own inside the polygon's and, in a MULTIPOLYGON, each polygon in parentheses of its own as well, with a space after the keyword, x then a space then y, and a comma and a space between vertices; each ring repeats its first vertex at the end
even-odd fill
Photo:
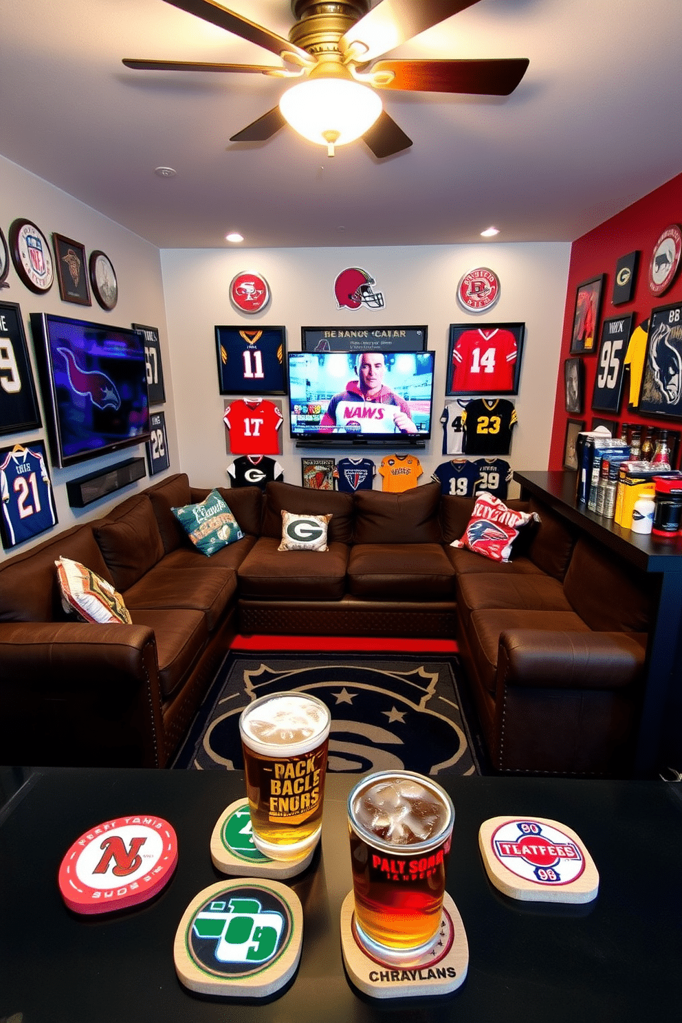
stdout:
POLYGON ((354 596, 390 601, 452 599, 455 572, 440 543, 357 543, 348 588, 354 596))

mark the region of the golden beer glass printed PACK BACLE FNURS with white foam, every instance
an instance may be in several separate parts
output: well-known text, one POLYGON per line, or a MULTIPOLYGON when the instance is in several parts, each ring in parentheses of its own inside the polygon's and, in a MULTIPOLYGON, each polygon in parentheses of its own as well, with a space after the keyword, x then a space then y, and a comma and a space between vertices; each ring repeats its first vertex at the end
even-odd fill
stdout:
POLYGON ((275 693, 239 718, 256 847, 271 859, 303 859, 322 830, 331 715, 307 693, 275 693))

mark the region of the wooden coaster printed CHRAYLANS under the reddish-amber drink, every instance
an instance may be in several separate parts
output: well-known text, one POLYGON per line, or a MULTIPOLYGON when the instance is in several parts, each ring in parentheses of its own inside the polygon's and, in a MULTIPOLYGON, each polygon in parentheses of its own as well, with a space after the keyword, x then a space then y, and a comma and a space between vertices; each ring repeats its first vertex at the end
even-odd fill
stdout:
POLYGON ((446 892, 438 943, 409 966, 380 963, 360 943, 354 927, 353 892, 344 899, 340 915, 342 952, 349 977, 371 998, 409 998, 448 994, 464 982, 469 947, 459 909, 446 892))

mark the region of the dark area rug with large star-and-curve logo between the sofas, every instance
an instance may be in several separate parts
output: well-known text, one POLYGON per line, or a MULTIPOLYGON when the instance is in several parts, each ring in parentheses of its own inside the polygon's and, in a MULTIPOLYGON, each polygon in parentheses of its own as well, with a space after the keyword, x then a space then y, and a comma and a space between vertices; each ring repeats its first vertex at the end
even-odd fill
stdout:
POLYGON ((231 653, 173 766, 242 769, 241 711, 259 697, 293 690, 331 712, 330 771, 483 773, 479 737, 462 713, 457 657, 287 653, 231 653))

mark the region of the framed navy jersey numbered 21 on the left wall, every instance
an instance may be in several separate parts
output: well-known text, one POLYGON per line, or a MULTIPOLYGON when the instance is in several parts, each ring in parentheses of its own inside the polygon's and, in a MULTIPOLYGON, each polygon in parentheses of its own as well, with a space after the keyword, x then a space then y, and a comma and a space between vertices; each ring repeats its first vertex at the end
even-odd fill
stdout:
POLYGON ((0 533, 5 550, 56 525, 52 483, 42 441, 0 450, 0 485, 3 494, 0 533))

